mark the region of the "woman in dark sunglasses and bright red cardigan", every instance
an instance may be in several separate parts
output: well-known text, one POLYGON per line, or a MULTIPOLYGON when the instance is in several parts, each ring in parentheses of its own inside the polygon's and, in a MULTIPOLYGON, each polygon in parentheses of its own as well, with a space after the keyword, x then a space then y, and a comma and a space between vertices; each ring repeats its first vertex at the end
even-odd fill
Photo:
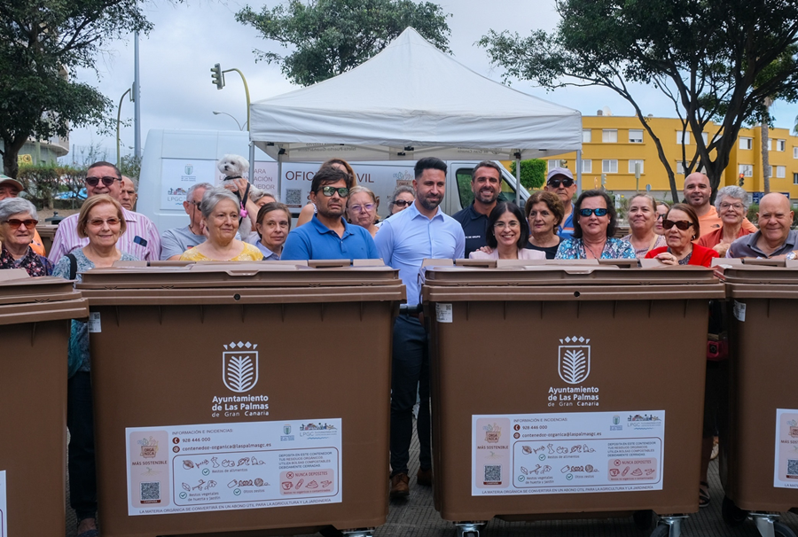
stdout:
POLYGON ((670 207, 662 222, 665 228, 667 245, 654 248, 645 254, 645 259, 656 259, 663 265, 700 265, 708 267, 712 258, 718 257, 712 248, 693 245, 692 241, 699 237, 700 223, 698 215, 685 203, 677 203, 670 207))

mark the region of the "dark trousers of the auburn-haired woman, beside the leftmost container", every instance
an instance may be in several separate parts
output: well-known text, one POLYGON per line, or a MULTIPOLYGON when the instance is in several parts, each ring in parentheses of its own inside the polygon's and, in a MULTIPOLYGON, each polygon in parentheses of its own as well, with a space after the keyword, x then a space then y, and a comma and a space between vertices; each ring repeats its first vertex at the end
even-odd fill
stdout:
POLYGON ((97 518, 97 471, 94 462, 94 409, 91 374, 78 371, 66 383, 69 429, 69 504, 78 521, 97 518))

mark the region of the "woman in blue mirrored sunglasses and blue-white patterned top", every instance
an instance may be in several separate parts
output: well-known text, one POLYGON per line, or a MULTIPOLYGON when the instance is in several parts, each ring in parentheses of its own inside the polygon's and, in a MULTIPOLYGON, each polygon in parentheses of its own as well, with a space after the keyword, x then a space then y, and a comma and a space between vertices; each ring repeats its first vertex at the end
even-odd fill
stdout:
POLYGON ((574 237, 559 243, 554 259, 635 259, 631 245, 614 237, 617 215, 606 192, 583 191, 574 214, 574 237))

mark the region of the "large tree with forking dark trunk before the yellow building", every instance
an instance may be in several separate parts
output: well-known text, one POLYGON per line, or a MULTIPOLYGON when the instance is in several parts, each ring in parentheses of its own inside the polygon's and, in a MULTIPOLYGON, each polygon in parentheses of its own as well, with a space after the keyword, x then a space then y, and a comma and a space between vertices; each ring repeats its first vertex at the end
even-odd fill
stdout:
MULTIPOLYGON (((691 133, 683 144, 685 174, 703 168, 717 190, 739 128, 764 97, 798 97, 798 0, 559 0, 552 34, 521 38, 493 30, 481 38, 505 80, 549 89, 601 86, 626 99, 651 136, 678 199, 674 167, 635 97, 633 82, 668 97, 691 133), (778 61, 776 61, 778 60, 778 61), (765 77, 763 73, 767 72, 765 77), (716 132, 702 134, 709 121, 716 132)), ((662 133, 666 134, 666 133, 662 133)), ((672 136, 670 133, 667 136, 672 136)))

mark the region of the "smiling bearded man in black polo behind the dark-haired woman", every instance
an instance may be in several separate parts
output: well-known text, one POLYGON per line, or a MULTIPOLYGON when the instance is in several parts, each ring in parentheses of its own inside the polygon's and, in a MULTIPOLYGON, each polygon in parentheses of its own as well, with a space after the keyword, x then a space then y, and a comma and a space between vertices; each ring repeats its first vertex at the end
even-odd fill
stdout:
POLYGON ((471 172, 471 191, 473 203, 462 211, 452 215, 460 222, 465 232, 465 258, 474 250, 479 250, 488 243, 485 234, 488 231, 488 216, 499 194, 502 193, 502 170, 492 160, 482 160, 471 172))

